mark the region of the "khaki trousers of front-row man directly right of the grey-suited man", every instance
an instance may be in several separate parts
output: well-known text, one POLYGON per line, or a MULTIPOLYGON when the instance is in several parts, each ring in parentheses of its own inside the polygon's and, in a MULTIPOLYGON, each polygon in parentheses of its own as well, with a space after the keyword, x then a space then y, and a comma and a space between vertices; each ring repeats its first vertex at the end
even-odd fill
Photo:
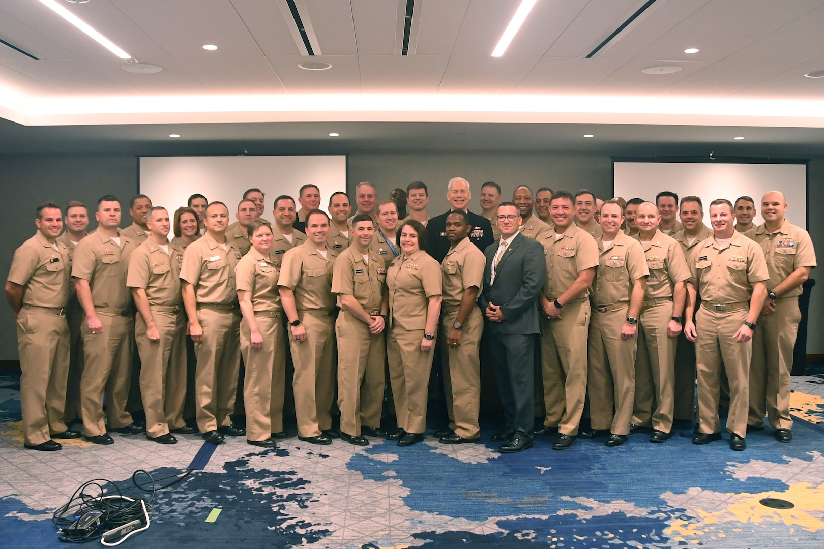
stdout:
POLYGON ((587 398, 587 339, 592 312, 588 300, 569 303, 559 319, 541 315, 541 374, 547 427, 578 435, 587 398))

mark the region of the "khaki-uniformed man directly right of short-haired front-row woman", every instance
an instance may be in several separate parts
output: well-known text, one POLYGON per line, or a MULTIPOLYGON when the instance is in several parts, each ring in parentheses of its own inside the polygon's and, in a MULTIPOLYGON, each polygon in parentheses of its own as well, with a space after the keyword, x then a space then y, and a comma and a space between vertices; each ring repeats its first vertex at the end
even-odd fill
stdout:
POLYGON ((309 212, 306 231, 308 240, 283 255, 278 286, 295 365, 297 437, 311 444, 331 444, 336 435, 330 415, 335 399, 335 296, 331 289, 338 253, 326 246, 329 216, 325 212, 309 212))

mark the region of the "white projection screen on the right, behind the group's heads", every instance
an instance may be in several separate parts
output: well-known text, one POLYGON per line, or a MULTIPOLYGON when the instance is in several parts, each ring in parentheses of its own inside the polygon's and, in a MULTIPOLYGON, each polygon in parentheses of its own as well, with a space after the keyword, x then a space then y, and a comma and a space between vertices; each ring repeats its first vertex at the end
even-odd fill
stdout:
POLYGON ((660 162, 614 161, 613 196, 644 198, 655 202, 661 191, 672 191, 678 197, 695 195, 704 203, 704 224, 709 226, 709 202, 727 198, 735 203, 740 196, 756 202, 756 219, 761 225, 761 197, 767 191, 780 190, 787 197, 787 219, 807 228, 807 164, 794 161, 786 164, 733 162, 660 162))

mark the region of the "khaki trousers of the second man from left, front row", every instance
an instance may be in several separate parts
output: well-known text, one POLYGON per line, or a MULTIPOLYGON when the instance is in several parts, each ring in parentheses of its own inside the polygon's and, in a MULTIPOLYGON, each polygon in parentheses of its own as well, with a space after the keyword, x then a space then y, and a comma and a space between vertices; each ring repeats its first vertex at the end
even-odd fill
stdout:
POLYGON ((97 318, 103 333, 89 332, 85 316, 81 326, 84 365, 80 402, 83 432, 87 436, 103 435, 106 425, 117 429, 133 422, 131 414, 126 412, 126 402, 132 380, 134 316, 98 312, 97 318), (103 421, 104 394, 108 422, 103 421))

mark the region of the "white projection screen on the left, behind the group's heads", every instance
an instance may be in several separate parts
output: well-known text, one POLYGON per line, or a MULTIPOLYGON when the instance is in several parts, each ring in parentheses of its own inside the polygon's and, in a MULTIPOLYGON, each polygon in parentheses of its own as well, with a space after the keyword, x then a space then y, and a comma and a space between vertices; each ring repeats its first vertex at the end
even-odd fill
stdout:
POLYGON ((174 214, 194 193, 229 208, 234 221, 237 203, 247 188, 266 195, 263 217, 272 221, 272 202, 281 194, 295 198, 304 184, 321 189, 321 209, 329 197, 346 192, 346 156, 141 156, 140 192, 174 214))

